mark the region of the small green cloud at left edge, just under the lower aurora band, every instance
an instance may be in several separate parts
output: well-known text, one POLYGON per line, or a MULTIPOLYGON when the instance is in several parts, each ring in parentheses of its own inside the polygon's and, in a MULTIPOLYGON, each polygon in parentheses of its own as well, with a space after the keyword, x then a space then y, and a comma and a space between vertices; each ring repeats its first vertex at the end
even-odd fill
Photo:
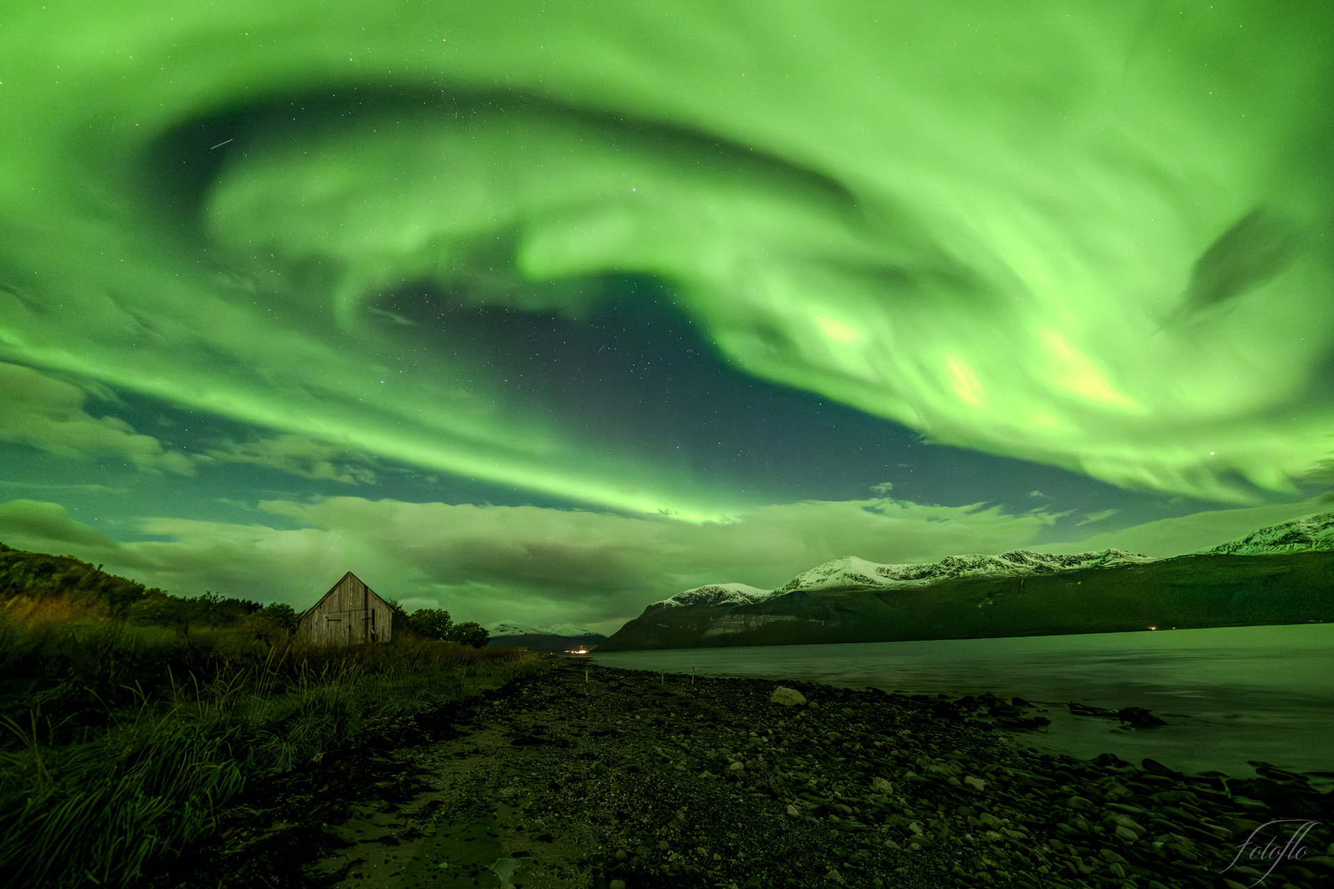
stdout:
POLYGON ((193 461, 116 417, 84 411, 84 392, 17 364, 0 363, 0 440, 73 458, 115 456, 140 469, 193 474, 193 461))

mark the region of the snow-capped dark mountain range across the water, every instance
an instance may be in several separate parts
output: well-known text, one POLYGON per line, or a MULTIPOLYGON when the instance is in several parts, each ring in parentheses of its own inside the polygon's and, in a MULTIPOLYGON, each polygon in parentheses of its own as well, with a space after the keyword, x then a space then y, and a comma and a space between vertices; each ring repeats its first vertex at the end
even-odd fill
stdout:
POLYGON ((844 556, 774 590, 687 589, 654 602, 599 650, 880 642, 1334 621, 1334 513, 1213 549, 1015 550, 879 565, 844 556))

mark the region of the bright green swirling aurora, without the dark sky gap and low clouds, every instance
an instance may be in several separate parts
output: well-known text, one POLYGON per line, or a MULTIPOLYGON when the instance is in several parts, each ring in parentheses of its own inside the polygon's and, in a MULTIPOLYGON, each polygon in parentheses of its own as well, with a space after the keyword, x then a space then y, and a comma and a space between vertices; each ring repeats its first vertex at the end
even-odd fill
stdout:
POLYGON ((0 25, 11 364, 727 514, 383 308, 410 283, 574 316, 631 275, 740 372, 938 443, 1219 500, 1330 456, 1327 4, 12 0, 0 25))

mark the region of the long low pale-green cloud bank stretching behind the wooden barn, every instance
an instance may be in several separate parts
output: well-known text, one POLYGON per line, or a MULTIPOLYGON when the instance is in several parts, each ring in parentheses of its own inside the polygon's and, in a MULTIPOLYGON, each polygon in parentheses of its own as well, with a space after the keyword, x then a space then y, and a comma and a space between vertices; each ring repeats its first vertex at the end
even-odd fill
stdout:
POLYGON ((603 626, 690 586, 740 581, 772 588, 846 554, 930 561, 1000 552, 1022 545, 1049 521, 1035 513, 890 500, 766 506, 732 522, 696 525, 538 506, 328 497, 261 504, 303 528, 151 517, 137 530, 167 540, 115 542, 63 508, 44 506, 49 517, 25 506, 20 518, 31 520, 11 522, 7 533, 20 532, 31 549, 68 550, 67 541, 81 541, 88 557, 177 593, 212 589, 300 608, 354 570, 410 606, 442 605, 482 621, 603 626))

